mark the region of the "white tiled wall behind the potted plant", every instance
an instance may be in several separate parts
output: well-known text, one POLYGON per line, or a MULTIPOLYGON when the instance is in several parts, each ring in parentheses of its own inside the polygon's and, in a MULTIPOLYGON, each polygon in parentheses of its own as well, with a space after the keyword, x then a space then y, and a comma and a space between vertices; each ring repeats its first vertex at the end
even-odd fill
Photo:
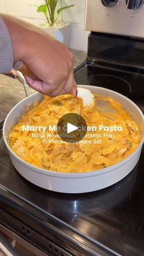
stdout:
MULTIPOLYGON (((44 4, 44 0, 0 0, 0 12, 22 18, 35 26, 45 21, 43 13, 37 13, 34 6, 44 4)), ((84 30, 85 0, 60 0, 59 6, 74 7, 63 10, 60 20, 71 23, 69 47, 87 51, 89 32, 84 30)))

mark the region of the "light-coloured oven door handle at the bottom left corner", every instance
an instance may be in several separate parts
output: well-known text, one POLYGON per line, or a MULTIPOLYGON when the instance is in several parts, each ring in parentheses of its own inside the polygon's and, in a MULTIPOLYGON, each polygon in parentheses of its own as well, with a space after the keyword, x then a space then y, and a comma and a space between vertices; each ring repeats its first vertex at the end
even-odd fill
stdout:
POLYGON ((20 256, 16 249, 9 244, 9 242, 4 238, 4 236, 0 233, 0 252, 5 256, 20 256))

